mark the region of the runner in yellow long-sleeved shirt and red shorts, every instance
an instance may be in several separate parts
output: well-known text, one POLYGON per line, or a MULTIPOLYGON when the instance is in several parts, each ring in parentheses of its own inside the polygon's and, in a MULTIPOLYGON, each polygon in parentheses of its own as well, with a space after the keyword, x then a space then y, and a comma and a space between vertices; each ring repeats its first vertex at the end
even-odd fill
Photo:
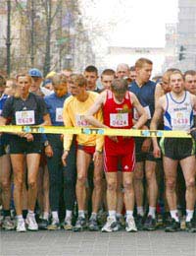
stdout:
MULTIPOLYGON (((67 127, 88 127, 89 124, 84 120, 83 115, 95 102, 98 94, 86 91, 86 79, 82 75, 72 75, 70 81, 70 90, 72 96, 66 99, 63 109, 63 119, 67 127)), ((102 121, 102 111, 98 111, 95 117, 102 121)), ((89 229, 98 230, 97 212, 101 198, 101 181, 103 175, 102 168, 102 148, 103 137, 98 135, 77 135, 76 136, 76 200, 78 204, 78 218, 73 228, 74 231, 80 231, 86 227, 84 216, 85 211, 85 182, 90 160, 94 160, 94 189, 92 195, 92 214, 89 219, 89 229)), ((63 163, 66 160, 73 142, 73 135, 64 137, 63 163)))

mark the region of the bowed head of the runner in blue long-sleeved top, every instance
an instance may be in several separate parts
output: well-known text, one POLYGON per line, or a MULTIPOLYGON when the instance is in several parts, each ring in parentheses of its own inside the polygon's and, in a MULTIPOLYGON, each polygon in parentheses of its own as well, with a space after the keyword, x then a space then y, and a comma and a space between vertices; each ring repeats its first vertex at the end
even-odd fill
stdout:
POLYGON ((65 75, 54 75, 54 77, 52 78, 52 85, 56 96, 62 97, 68 94, 67 79, 65 75))

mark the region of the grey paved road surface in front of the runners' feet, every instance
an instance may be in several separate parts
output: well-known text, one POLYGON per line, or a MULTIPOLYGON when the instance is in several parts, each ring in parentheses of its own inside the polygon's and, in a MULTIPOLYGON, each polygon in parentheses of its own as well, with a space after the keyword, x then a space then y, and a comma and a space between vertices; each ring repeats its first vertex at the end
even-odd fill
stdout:
POLYGON ((196 233, 164 230, 0 233, 0 256, 196 256, 196 233))

